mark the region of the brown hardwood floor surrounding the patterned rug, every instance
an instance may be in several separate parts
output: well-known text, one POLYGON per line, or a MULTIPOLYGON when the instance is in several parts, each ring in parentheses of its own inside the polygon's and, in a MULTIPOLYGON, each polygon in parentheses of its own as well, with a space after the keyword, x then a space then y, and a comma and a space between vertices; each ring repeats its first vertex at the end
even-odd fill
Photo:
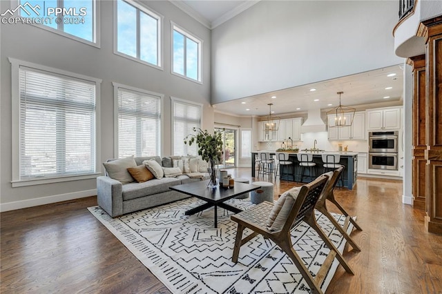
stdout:
MULTIPOLYGON (((251 179, 249 168, 230 172, 251 179)), ((275 196, 292 186, 278 178, 275 196)), ((355 275, 338 266, 327 293, 442 293, 442 236, 426 233, 423 210, 401 197, 397 180, 336 188, 364 231, 352 233, 362 251, 344 253, 355 275)), ((88 212, 95 205, 87 197, 1 213, 0 292, 170 293, 88 212)))

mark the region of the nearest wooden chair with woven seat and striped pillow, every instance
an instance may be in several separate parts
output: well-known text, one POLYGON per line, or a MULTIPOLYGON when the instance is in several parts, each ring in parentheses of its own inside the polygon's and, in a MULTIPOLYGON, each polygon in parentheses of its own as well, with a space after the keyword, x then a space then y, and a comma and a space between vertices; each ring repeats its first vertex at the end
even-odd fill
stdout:
POLYGON ((249 242, 253 237, 262 235, 275 242, 275 244, 290 257, 314 293, 323 293, 320 289, 320 284, 325 279, 325 275, 327 275, 334 257, 338 259, 347 273, 354 275, 352 268, 347 264, 344 257, 316 223, 314 207, 323 192, 327 179, 327 176, 320 176, 313 182, 298 188, 296 190, 298 195, 294 193, 292 196, 290 193, 286 193, 278 199, 276 204, 262 202, 241 213, 232 215, 231 219, 238 223, 232 261, 234 263, 238 262, 240 247, 242 245, 249 242), (316 233, 318 233, 330 249, 329 255, 327 255, 324 264, 320 267, 318 273, 316 273, 315 278, 311 276, 308 268, 298 253, 296 253, 291 243, 291 228, 298 226, 300 222, 306 222, 311 228, 314 228, 316 233), (244 228, 249 228, 253 233, 242 238, 244 228))

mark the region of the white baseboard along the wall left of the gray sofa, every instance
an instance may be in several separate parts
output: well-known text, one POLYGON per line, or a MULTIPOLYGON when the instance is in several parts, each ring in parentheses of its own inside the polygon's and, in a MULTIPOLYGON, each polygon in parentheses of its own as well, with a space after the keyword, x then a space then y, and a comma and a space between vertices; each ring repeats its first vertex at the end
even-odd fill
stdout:
POLYGON ((66 193, 66 194, 52 195, 52 196, 46 196, 46 197, 40 197, 40 198, 26 199, 26 200, 15 201, 15 202, 2 203, 2 204, 0 204, 0 212, 3 213, 4 211, 9 211, 9 210, 16 210, 16 209, 28 208, 28 207, 32 207, 32 206, 51 204, 51 203, 55 203, 55 202, 61 202, 61 201, 72 200, 72 199, 83 198, 83 197, 89 197, 89 196, 94 196, 94 195, 97 195, 97 189, 84 190, 84 191, 73 192, 73 193, 66 193))

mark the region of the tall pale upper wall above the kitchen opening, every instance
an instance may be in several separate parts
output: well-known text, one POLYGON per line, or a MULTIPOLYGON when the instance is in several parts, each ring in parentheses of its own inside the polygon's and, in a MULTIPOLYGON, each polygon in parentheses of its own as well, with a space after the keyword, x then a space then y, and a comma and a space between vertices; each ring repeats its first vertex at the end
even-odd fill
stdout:
POLYGON ((260 1, 212 31, 212 103, 392 66, 398 1, 260 1))

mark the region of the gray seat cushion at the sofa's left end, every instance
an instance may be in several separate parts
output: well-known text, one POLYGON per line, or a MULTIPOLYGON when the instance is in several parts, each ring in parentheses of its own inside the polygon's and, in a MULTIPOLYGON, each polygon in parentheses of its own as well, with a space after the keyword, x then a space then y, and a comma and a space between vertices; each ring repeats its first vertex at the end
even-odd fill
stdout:
POLYGON ((169 191, 169 187, 180 185, 180 179, 174 177, 163 177, 162 179, 151 179, 143 183, 130 183, 123 185, 123 200, 140 198, 169 191))

